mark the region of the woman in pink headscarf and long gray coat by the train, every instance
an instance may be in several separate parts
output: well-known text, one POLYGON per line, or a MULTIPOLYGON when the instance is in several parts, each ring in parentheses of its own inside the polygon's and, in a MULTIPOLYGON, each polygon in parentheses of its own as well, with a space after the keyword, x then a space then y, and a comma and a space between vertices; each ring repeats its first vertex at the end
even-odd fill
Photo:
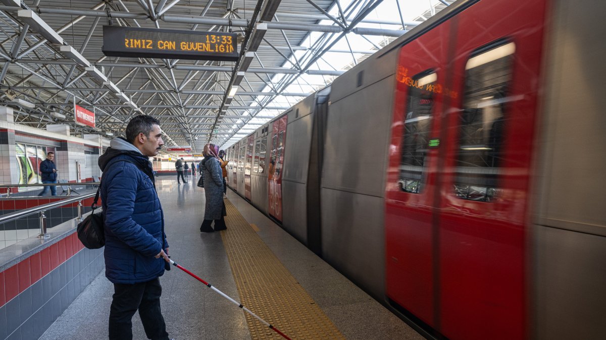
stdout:
POLYGON ((201 170, 204 171, 204 196, 206 204, 204 207, 204 222, 200 226, 201 232, 213 232, 225 230, 224 216, 225 205, 223 203, 223 178, 221 163, 219 162, 219 146, 207 144, 204 146, 204 159, 201 170), (215 221, 215 229, 211 224, 215 221))

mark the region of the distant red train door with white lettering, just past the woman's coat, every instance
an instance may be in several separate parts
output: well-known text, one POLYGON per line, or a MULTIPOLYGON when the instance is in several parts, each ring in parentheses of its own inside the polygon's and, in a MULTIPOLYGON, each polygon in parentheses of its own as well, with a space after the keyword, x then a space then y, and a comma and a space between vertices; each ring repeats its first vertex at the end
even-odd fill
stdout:
POLYGON ((271 155, 269 165, 269 213, 282 221, 282 166, 288 114, 273 122, 271 131, 271 155))

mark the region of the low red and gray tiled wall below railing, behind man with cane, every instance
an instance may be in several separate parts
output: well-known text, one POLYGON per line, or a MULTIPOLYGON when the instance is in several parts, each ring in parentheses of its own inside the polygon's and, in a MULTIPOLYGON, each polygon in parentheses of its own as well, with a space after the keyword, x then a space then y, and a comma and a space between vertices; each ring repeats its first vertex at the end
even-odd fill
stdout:
POLYGON ((38 339, 103 267, 74 233, 0 272, 0 339, 38 339))

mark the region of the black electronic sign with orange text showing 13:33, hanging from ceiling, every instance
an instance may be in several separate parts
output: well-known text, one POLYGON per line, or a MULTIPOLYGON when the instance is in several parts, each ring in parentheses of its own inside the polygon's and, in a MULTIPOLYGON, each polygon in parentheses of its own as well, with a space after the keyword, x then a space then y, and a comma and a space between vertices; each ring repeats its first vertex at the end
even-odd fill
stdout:
POLYGON ((238 60, 236 33, 104 26, 103 53, 113 57, 238 60))

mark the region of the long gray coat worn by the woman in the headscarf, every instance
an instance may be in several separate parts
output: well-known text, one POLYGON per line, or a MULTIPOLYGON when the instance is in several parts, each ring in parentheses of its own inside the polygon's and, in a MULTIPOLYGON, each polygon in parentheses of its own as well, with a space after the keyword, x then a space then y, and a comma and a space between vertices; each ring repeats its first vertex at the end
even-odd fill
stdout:
POLYGON ((204 220, 221 220, 223 211, 223 178, 221 165, 215 157, 205 157, 202 160, 204 169, 204 220))

